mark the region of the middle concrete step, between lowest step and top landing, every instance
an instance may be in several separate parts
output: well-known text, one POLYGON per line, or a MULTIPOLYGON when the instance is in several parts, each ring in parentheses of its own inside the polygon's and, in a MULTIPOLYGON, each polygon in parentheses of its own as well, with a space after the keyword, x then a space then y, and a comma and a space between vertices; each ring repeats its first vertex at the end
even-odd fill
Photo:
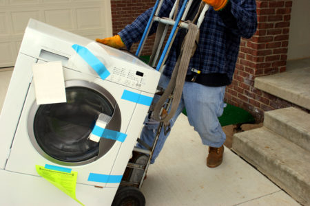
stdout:
POLYGON ((269 111, 264 126, 310 152, 310 114, 294 107, 269 111))

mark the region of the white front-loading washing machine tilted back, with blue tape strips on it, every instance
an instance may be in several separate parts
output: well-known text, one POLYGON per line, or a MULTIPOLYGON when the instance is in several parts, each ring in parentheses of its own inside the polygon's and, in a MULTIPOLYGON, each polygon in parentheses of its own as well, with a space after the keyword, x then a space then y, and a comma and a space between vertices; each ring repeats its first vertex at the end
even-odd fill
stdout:
POLYGON ((0 117, 1 204, 79 205, 39 176, 36 165, 49 165, 78 172, 81 203, 110 205, 159 77, 131 54, 30 19, 0 117), (106 62, 110 74, 101 78, 72 45, 106 62), (59 60, 67 102, 37 105, 32 65, 59 60), (100 114, 122 139, 88 138, 100 114))

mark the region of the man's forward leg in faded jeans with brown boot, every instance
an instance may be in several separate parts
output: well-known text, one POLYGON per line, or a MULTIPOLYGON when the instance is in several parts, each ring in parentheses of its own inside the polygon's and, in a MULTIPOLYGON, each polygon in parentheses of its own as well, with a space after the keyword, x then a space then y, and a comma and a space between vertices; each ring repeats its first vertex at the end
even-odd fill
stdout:
POLYGON ((204 145, 209 146, 207 165, 214 168, 223 160, 225 133, 218 117, 223 114, 225 87, 206 87, 185 82, 183 98, 189 124, 199 133, 204 145))

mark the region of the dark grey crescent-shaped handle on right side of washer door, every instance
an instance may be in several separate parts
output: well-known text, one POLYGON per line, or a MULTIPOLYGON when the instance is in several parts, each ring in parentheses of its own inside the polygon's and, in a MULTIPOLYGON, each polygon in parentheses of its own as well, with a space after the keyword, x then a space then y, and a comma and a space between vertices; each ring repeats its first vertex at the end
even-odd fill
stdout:
MULTIPOLYGON (((116 132, 121 131, 121 110, 119 109, 119 106, 117 103, 115 103, 113 115, 110 119, 110 122, 107 123, 107 126, 105 126, 108 130, 113 130, 116 132)), ((100 157, 103 157, 115 144, 114 139, 106 139, 101 138, 99 141, 99 152, 96 159, 99 159, 100 157)))

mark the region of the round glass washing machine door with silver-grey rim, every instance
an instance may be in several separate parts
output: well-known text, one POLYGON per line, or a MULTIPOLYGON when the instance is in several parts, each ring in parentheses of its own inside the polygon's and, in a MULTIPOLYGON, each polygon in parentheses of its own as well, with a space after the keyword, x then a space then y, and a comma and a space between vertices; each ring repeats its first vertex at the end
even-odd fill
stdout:
POLYGON ((83 165, 99 159, 115 140, 88 137, 103 113, 112 117, 105 128, 120 131, 121 112, 116 100, 92 82, 65 82, 66 103, 32 105, 28 116, 30 140, 46 159, 62 165, 83 165))

